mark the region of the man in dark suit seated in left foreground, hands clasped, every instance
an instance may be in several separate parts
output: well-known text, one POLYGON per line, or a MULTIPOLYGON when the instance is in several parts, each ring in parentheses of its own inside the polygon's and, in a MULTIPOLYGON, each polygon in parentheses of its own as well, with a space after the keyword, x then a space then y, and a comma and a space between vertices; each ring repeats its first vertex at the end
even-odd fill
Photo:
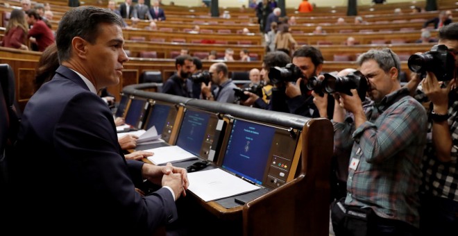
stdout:
POLYGON ((153 235, 177 219, 186 170, 126 160, 112 112, 97 95, 119 83, 128 61, 121 27, 121 17, 92 6, 72 8, 60 20, 60 67, 28 101, 17 141, 21 158, 12 163, 15 181, 27 180, 33 194, 17 194, 12 204, 11 218, 28 224, 18 231, 153 235), (136 192, 144 180, 158 190, 136 192))

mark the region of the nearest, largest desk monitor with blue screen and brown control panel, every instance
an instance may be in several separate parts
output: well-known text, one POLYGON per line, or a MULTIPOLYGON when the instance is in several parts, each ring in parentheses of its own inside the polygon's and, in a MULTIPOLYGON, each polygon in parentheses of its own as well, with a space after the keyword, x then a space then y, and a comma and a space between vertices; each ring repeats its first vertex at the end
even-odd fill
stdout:
POLYGON ((289 128, 234 119, 228 132, 222 169, 270 188, 285 184, 290 171, 296 171, 291 165, 298 138, 289 128))

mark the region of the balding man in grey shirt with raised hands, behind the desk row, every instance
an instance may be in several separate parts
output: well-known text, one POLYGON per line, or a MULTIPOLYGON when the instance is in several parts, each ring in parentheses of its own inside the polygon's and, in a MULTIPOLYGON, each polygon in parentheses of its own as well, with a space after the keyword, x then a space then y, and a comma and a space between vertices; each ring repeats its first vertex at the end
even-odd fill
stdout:
POLYGON ((235 103, 234 88, 237 87, 230 78, 228 78, 228 66, 226 63, 217 62, 208 69, 212 81, 206 85, 202 83, 202 97, 211 101, 219 101, 221 103, 235 103), (212 90, 212 84, 217 87, 212 90))

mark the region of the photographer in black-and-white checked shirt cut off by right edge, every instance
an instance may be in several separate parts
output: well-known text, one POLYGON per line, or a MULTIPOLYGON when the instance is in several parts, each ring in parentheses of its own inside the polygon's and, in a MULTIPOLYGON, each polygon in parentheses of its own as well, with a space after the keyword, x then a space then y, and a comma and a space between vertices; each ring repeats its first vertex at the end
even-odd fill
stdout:
POLYGON ((407 87, 418 101, 430 102, 420 189, 421 235, 448 235, 457 229, 457 55, 458 23, 452 23, 439 29, 439 42, 431 51, 412 55, 408 61, 418 74, 411 74, 407 87))

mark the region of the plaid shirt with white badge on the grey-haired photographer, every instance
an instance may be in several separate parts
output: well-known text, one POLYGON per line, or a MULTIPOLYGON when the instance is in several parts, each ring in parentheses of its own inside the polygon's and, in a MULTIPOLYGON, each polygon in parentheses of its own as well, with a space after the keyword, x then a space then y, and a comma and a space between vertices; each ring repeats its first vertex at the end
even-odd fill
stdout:
POLYGON ((356 130, 348 120, 333 122, 336 149, 352 149, 345 203, 418 227, 425 108, 401 89, 365 113, 368 121, 356 130))

